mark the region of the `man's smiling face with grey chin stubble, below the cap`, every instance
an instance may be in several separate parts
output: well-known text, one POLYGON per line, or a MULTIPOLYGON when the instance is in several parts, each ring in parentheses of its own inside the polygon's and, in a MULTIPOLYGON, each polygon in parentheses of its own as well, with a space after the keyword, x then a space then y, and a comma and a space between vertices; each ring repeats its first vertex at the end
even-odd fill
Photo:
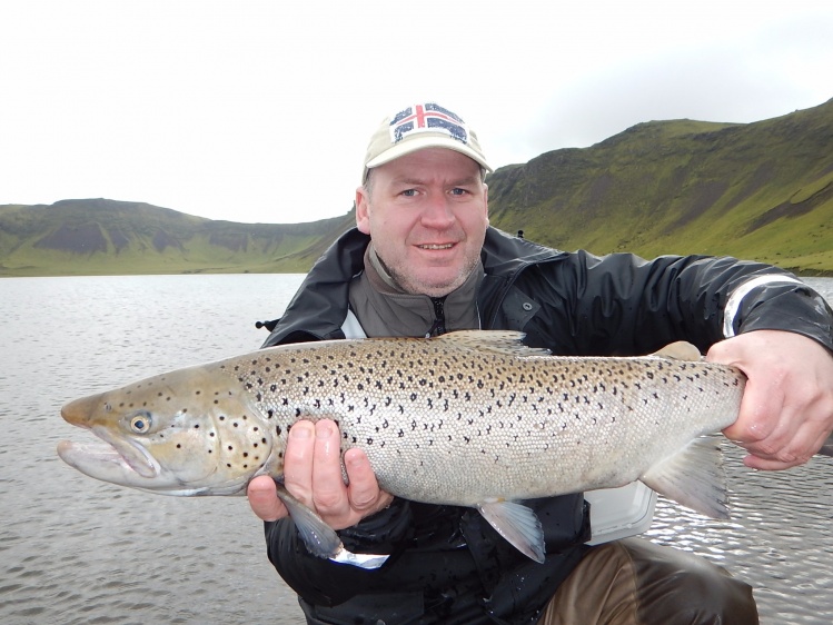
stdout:
POLYGON ((465 155, 427 148, 371 170, 356 190, 356 224, 406 292, 440 297, 477 265, 488 226, 488 189, 465 155))

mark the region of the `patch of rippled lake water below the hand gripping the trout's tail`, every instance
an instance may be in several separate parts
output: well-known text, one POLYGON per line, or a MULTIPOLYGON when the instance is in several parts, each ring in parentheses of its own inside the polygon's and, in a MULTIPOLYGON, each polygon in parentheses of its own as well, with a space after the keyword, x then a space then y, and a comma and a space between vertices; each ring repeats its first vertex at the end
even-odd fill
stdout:
POLYGON ((833 459, 751 472, 742 449, 722 447, 732 518, 708 519, 661 498, 647 535, 750 582, 762 623, 833 623, 833 459))

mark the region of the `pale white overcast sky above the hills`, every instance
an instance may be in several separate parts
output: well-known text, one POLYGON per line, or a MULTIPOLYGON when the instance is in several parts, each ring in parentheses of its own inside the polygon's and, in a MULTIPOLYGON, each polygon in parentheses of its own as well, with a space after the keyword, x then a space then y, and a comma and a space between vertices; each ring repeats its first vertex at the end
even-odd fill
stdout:
POLYGON ((418 101, 499 167, 833 98, 831 0, 17 0, 0 32, 0 204, 313 221, 350 209, 370 133, 418 101))

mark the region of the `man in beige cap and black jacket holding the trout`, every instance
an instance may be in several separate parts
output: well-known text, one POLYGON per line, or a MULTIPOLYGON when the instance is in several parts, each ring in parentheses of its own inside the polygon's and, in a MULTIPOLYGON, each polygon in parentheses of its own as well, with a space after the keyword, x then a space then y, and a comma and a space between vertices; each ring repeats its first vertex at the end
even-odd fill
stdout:
MULTIPOLYGON (((526 333, 557 355, 645 354, 677 339, 748 376, 725 435, 746 465, 806 462, 833 429, 833 312, 774 267, 727 258, 565 254, 488 227, 490 168, 463 120, 434 103, 386 119, 356 191, 357 229, 319 259, 266 345, 356 336, 526 333)), ((286 486, 354 555, 311 556, 268 477, 249 502, 308 623, 757 623, 748 586, 691 554, 629 538, 586 546, 581 494, 528 502, 546 559, 477 513, 394 498, 334 421, 289 433, 286 486)))

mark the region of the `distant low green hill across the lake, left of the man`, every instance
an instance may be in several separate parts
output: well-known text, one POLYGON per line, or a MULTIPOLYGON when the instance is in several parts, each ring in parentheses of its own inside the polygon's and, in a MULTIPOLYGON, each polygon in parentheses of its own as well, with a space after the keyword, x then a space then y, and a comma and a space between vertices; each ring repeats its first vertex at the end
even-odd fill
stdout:
POLYGON ((303 272, 353 224, 235 224, 106 199, 7 205, 0 276, 303 272))

